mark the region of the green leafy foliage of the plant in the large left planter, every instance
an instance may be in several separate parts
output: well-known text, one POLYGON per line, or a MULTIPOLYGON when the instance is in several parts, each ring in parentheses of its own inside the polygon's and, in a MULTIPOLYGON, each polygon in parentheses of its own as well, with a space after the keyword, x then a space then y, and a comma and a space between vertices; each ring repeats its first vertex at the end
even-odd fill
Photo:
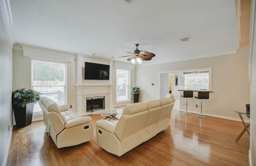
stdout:
POLYGON ((39 101, 41 93, 35 91, 33 89, 26 90, 18 89, 12 92, 12 105, 16 105, 18 107, 26 107, 27 103, 36 103, 39 101))

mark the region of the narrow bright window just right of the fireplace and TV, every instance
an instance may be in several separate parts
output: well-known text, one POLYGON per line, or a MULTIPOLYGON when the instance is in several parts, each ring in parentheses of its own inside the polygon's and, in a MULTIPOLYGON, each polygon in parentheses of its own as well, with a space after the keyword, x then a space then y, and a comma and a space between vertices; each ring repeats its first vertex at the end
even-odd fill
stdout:
POLYGON ((130 101, 130 70, 116 69, 116 102, 130 101))

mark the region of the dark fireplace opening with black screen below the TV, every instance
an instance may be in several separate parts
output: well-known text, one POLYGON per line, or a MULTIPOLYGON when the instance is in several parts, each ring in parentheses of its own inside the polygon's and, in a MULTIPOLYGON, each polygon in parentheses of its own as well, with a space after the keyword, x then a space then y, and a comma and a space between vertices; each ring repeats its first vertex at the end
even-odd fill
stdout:
POLYGON ((86 97, 86 112, 105 109, 105 96, 86 97))

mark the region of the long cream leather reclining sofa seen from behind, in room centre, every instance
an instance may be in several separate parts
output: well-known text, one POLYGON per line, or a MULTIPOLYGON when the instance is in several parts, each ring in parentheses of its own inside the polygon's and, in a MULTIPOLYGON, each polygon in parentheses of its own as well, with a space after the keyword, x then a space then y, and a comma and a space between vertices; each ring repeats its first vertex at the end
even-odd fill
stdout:
POLYGON ((170 97, 126 105, 118 121, 96 122, 96 137, 100 147, 122 156, 169 126, 174 103, 170 97))

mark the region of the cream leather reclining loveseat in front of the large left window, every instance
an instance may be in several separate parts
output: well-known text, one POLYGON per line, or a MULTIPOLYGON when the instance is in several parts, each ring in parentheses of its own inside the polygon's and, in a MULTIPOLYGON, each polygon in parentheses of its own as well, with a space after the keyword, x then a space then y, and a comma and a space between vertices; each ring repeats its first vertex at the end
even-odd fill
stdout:
POLYGON ((94 126, 91 117, 81 117, 68 110, 67 105, 59 106, 48 97, 38 102, 44 115, 46 131, 57 148, 74 146, 92 140, 94 126))

